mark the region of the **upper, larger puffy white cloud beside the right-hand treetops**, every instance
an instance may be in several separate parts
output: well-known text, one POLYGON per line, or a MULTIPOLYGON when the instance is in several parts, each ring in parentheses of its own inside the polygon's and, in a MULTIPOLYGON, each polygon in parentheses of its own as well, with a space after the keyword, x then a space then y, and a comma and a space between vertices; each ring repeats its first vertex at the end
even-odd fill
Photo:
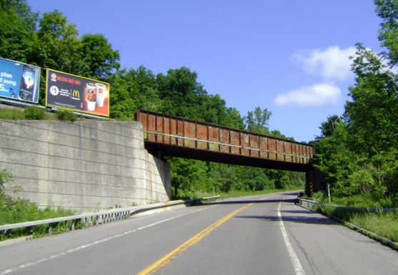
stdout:
POLYGON ((349 56, 353 56, 356 51, 355 47, 340 49, 339 46, 329 46, 324 51, 298 51, 294 53, 292 59, 297 61, 309 75, 343 81, 352 78, 352 61, 349 56))

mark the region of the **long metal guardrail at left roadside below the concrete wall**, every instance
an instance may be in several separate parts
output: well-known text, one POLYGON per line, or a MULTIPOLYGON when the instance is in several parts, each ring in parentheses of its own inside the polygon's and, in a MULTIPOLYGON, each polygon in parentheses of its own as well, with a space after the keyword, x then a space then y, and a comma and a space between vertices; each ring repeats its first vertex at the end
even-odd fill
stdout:
MULTIPOLYGON (((213 196, 213 197, 204 197, 201 199, 201 201, 204 199, 217 199, 218 197, 219 197, 219 195, 213 196)), ((148 204, 148 205, 137 206, 137 207, 111 209, 111 210, 103 211, 103 212, 78 214, 78 215, 69 216, 69 217, 59 217, 59 218, 54 218, 54 219, 42 219, 42 220, 33 221, 33 222, 21 222, 18 224, 4 224, 4 225, 0 225, 0 231, 3 231, 5 234, 11 234, 12 229, 28 228, 29 232, 31 232, 33 227, 36 225, 49 224, 48 232, 51 232, 51 228, 52 228, 51 225, 56 226, 56 224, 58 224, 59 222, 69 222, 69 221, 73 221, 73 224, 71 225, 71 230, 74 230, 74 223, 76 221, 82 221, 84 224, 84 227, 91 227, 94 225, 106 224, 109 222, 116 222, 121 219, 128 219, 129 217, 133 216, 134 214, 139 214, 141 212, 146 212, 149 210, 160 209, 160 208, 164 208, 164 207, 172 207, 172 206, 179 205, 179 204, 189 204, 189 205, 196 204, 195 201, 196 201, 196 199, 177 200, 177 201, 172 201, 172 202, 148 204)))

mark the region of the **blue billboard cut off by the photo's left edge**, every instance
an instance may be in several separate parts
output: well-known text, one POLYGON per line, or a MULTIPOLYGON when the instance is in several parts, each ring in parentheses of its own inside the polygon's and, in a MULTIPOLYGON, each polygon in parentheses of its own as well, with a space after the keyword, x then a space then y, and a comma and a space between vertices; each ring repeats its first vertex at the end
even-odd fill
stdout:
POLYGON ((0 97, 39 102, 40 68, 0 58, 0 97))

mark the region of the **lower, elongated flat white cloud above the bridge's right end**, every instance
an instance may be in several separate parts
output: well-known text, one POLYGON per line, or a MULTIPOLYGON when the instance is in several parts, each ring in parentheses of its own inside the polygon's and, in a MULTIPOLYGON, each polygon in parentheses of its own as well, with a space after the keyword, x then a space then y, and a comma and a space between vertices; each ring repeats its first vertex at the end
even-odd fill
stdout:
POLYGON ((278 95, 274 99, 274 103, 278 106, 297 104, 304 107, 315 107, 337 104, 341 94, 342 91, 334 83, 317 83, 278 95))

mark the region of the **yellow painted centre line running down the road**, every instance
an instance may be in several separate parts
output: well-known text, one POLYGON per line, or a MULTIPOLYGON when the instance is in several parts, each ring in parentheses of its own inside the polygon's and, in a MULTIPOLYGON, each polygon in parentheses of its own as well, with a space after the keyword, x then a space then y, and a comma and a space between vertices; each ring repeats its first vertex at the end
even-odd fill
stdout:
POLYGON ((161 259, 157 260, 154 262, 154 264, 151 264, 148 266, 146 269, 143 271, 139 272, 137 275, 147 275, 147 274, 155 274, 157 271, 159 271, 162 267, 168 265, 173 259, 175 259, 177 256, 182 254, 186 249, 189 247, 193 246, 197 242, 199 242, 201 239, 206 237, 208 234, 210 234, 214 229, 219 227, 220 225, 224 224, 224 222, 227 222, 228 219, 231 219, 234 217, 235 214, 238 214, 244 209, 247 209, 247 207, 251 206, 252 203, 246 204, 244 207, 241 207, 231 214, 228 214, 227 216, 223 217, 222 219, 219 219, 219 221, 215 222, 211 226, 207 227, 207 229, 204 229, 202 232, 199 234, 196 234, 194 237, 189 239, 188 241, 184 242, 184 244, 181 244, 179 247, 174 249, 173 251, 169 252, 169 254, 166 254, 165 256, 161 257, 161 259))

